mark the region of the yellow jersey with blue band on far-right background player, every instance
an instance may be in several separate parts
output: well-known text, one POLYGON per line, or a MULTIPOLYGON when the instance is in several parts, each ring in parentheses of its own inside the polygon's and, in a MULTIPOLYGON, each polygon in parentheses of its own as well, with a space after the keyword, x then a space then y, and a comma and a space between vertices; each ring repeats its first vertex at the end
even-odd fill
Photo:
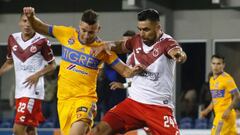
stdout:
POLYGON ((230 106, 232 102, 231 94, 238 91, 238 88, 231 75, 223 72, 215 79, 210 78, 210 91, 214 111, 222 112, 230 106))

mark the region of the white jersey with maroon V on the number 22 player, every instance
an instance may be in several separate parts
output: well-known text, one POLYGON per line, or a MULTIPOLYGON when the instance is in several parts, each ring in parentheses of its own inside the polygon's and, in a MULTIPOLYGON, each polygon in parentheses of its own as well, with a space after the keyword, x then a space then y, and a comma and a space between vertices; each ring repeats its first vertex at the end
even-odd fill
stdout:
POLYGON ((40 77, 37 86, 25 87, 26 79, 43 69, 46 62, 54 60, 50 42, 42 35, 35 35, 24 41, 21 32, 8 38, 7 59, 13 59, 15 68, 15 98, 29 97, 44 99, 44 79, 40 77))

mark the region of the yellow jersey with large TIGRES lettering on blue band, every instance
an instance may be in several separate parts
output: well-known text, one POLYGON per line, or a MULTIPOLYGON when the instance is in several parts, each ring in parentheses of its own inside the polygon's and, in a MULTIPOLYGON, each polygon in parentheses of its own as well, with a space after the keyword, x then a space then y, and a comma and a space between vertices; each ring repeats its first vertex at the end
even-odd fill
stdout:
POLYGON ((97 100, 96 81, 103 62, 113 66, 120 59, 115 53, 108 55, 101 52, 98 56, 90 55, 92 47, 101 45, 96 39, 84 45, 79 40, 79 31, 72 27, 51 26, 49 34, 62 44, 62 60, 58 77, 58 99, 93 98, 97 100))

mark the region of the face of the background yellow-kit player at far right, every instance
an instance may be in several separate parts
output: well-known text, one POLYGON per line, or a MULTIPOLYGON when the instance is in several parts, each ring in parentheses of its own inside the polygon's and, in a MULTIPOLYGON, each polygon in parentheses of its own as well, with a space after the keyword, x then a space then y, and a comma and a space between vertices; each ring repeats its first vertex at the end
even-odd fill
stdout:
POLYGON ((212 68, 213 74, 216 75, 216 74, 222 73, 224 67, 225 67, 225 64, 223 63, 222 59, 212 58, 211 68, 212 68))

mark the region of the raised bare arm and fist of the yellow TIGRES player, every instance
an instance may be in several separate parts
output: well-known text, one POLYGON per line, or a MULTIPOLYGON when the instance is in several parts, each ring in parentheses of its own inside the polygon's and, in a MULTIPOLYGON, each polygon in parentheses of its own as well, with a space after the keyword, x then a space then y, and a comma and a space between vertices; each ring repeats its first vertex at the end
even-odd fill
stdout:
POLYGON ((50 25, 42 22, 35 16, 35 9, 33 7, 24 7, 23 13, 27 16, 29 23, 36 32, 43 35, 49 35, 48 29, 50 25))

